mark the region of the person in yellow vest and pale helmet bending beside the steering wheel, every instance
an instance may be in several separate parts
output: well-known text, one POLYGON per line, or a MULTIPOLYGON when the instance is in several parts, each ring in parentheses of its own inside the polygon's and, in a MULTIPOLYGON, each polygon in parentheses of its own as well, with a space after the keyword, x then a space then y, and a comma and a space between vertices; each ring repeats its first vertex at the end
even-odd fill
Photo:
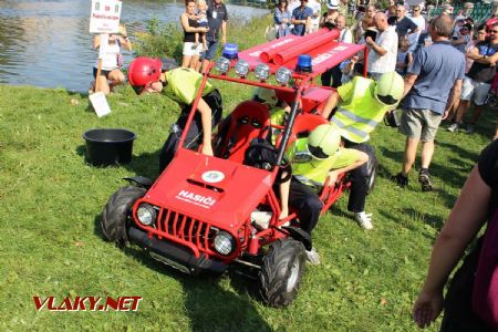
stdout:
MULTIPOLYGON (((319 198, 320 190, 324 186, 333 186, 340 174, 360 167, 369 160, 365 153, 343 148, 340 144, 341 134, 338 127, 334 124, 322 124, 308 137, 298 138, 287 153, 292 167, 292 178, 280 193, 280 218, 289 212, 289 206, 294 208, 301 229, 310 236, 323 206, 319 198)), ((318 258, 317 252, 313 255, 318 258)))

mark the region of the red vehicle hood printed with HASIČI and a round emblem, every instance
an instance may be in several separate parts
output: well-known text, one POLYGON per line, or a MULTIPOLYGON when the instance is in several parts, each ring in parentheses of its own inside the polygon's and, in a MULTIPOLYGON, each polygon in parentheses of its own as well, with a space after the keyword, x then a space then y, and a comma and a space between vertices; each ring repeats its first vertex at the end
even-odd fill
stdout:
POLYGON ((272 185, 272 174, 181 149, 145 195, 152 204, 237 229, 272 185))

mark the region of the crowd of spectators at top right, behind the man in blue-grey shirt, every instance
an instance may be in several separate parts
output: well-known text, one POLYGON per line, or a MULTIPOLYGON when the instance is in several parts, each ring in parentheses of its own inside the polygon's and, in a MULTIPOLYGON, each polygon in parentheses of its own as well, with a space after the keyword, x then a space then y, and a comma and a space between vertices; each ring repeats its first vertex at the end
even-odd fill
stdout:
MULTIPOLYGON (((320 0, 291 0, 289 3, 281 0, 274 14, 276 24, 279 25, 279 31, 282 31, 278 37, 288 33, 311 33, 317 30, 317 18, 320 18, 319 27, 335 27, 340 30, 340 42, 367 45, 369 75, 372 79, 378 79, 391 71, 403 76, 409 75, 417 59, 415 54, 435 43, 428 31, 429 19, 427 14, 423 14, 424 2, 409 7, 391 0, 387 8, 377 8, 369 1, 357 1, 347 7, 346 0, 325 0, 322 3, 322 13, 318 4, 320 0), (352 25, 349 27, 347 22, 352 22, 352 25)), ((464 9, 456 13, 452 10, 452 7, 444 6, 440 13, 450 19, 450 33, 443 42, 463 55, 466 64, 465 80, 461 92, 448 114, 442 115, 443 118, 448 116, 448 131, 459 131, 464 127, 465 114, 473 103, 474 115, 466 126, 466 132, 474 133, 486 102, 494 97, 498 87, 498 79, 495 79, 498 55, 494 55, 498 46, 498 35, 495 32, 495 29, 498 30, 495 25, 498 20, 490 17, 486 23, 477 24, 464 9)), ((360 54, 359 58, 331 69, 322 75, 322 84, 339 87, 351 80, 354 69, 361 69, 362 62, 363 56, 360 54), (345 72, 349 75, 344 75, 345 72)), ((447 62, 450 62, 449 58, 445 59, 445 63, 447 62)), ((416 108, 419 105, 413 106, 416 108)), ((497 136, 498 125, 492 138, 497 136)))

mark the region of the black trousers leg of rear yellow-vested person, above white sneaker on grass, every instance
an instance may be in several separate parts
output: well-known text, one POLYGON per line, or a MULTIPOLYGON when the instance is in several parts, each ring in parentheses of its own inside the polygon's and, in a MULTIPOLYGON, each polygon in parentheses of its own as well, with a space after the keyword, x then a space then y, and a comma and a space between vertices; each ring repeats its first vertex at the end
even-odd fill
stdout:
MULTIPOLYGON (((364 152, 370 159, 375 157, 374 149, 366 143, 353 143, 344 139, 344 147, 354 148, 364 152)), ((351 188, 347 210, 352 212, 362 212, 365 210, 366 196, 369 195, 369 163, 350 172, 351 188)))

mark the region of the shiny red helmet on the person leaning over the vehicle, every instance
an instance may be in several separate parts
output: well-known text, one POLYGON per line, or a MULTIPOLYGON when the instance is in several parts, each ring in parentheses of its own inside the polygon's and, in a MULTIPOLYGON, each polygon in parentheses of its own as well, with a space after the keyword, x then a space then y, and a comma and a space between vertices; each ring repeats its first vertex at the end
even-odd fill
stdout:
POLYGON ((160 59, 136 58, 128 68, 128 81, 133 90, 141 94, 151 83, 159 81, 160 69, 160 59))

